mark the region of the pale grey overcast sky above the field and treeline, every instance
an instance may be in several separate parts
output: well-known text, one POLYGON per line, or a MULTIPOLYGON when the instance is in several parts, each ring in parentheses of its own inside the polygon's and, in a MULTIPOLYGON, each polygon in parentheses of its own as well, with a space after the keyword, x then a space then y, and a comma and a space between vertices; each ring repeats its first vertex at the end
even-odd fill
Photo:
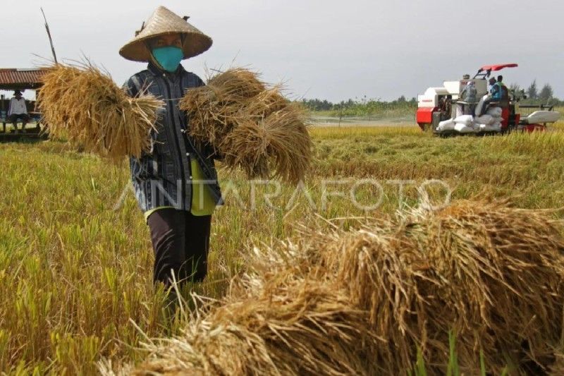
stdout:
POLYGON ((118 50, 159 5, 210 35, 188 71, 250 66, 293 97, 332 101, 415 97, 443 80, 491 63, 519 63, 506 83, 551 83, 564 97, 564 1, 561 0, 1 0, 1 68, 25 68, 56 53, 84 54, 120 85, 142 63, 118 50))

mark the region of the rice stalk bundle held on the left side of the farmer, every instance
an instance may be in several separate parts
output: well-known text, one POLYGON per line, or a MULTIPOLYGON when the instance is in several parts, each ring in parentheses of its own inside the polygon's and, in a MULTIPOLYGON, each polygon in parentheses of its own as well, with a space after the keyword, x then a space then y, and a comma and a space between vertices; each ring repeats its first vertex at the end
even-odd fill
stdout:
POLYGON ((161 101, 150 95, 128 97, 92 65, 58 64, 42 80, 37 104, 51 137, 114 160, 151 150, 149 133, 161 101))

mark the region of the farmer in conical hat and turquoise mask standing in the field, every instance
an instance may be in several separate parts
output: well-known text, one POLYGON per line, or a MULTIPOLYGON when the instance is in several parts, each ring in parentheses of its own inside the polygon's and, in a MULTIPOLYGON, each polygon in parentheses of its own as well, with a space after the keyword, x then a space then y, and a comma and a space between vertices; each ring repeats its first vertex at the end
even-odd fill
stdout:
POLYGON ((148 63, 125 83, 128 94, 148 92, 165 102, 157 132, 151 133, 152 152, 131 157, 130 169, 151 234, 153 279, 167 289, 173 281, 183 285, 206 277, 212 212, 222 202, 214 154, 190 138, 190 119, 178 108, 186 90, 204 85, 180 61, 212 46, 212 39, 186 20, 160 6, 120 50, 125 59, 148 63))

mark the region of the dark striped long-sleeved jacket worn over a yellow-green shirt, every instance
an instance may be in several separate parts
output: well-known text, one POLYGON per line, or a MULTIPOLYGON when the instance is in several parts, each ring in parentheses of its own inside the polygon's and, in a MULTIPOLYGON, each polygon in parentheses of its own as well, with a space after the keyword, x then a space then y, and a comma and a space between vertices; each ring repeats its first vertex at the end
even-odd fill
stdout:
POLYGON ((165 108, 158 112, 157 132, 151 132, 152 152, 143 154, 139 159, 130 157, 135 197, 143 212, 161 206, 190 210, 190 157, 197 159, 205 176, 203 182, 195 183, 207 187, 218 205, 223 203, 212 150, 209 147, 202 150, 195 145, 188 135, 190 119, 178 108, 178 101, 186 90, 202 85, 204 82, 197 75, 185 71, 182 66, 176 73, 163 73, 152 63, 124 85, 132 97, 146 90, 165 102, 165 108))

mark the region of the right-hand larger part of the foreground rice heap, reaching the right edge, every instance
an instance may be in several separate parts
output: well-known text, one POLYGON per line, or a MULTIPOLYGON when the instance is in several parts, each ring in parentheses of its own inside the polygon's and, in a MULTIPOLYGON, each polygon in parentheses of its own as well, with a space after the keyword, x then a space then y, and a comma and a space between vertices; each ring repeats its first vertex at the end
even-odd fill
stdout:
POLYGON ((315 258, 388 339, 373 354, 380 372, 405 372, 421 348, 444 373, 452 330, 468 374, 479 373, 481 351, 494 374, 529 373, 551 365, 563 329, 560 229, 541 212, 459 202, 324 236, 315 258))

